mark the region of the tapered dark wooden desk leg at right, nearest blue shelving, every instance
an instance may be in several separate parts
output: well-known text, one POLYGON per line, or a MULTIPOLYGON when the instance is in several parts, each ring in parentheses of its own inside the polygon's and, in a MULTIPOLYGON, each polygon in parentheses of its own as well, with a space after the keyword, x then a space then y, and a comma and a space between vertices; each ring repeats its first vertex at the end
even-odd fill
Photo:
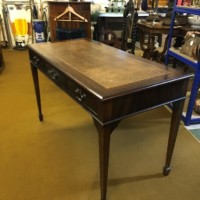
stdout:
POLYGON ((167 147, 167 155, 166 155, 165 166, 163 167, 163 174, 165 176, 167 176, 171 170, 170 163, 171 163, 171 159, 172 159, 174 146, 176 143, 176 138, 177 138, 179 124, 180 124, 181 115, 182 115, 182 111, 183 111, 184 101, 185 100, 180 100, 180 101, 173 103, 171 126, 170 126, 168 147, 167 147))

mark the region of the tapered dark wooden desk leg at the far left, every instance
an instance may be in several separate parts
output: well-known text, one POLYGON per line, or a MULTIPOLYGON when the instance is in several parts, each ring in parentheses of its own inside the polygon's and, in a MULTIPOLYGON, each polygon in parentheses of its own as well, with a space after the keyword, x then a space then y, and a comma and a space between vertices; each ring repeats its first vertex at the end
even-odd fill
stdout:
POLYGON ((41 98, 40 98, 40 87, 39 87, 39 79, 38 79, 38 70, 31 64, 31 71, 33 76, 33 83, 35 88, 35 94, 37 99, 37 106, 39 112, 39 120, 43 121, 43 114, 42 114, 42 106, 41 106, 41 98))

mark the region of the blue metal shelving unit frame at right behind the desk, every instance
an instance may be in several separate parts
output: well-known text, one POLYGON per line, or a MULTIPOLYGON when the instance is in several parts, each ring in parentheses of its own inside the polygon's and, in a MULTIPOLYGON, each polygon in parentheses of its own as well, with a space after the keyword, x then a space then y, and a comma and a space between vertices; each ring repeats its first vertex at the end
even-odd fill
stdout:
POLYGON ((194 69, 194 79, 193 79, 192 89, 191 89, 191 93, 189 97, 189 102, 187 105, 186 114, 182 115, 182 120, 184 124, 186 126, 189 126, 191 124, 200 123, 200 116, 193 117, 192 115, 193 108, 195 105, 195 100, 196 100, 199 86, 200 86, 200 62, 198 62, 197 60, 194 60, 192 57, 189 57, 187 55, 180 53, 179 50, 171 47, 172 36, 173 36, 173 26, 174 26, 175 16, 177 13, 200 15, 200 8, 178 6, 177 0, 175 0, 173 14, 172 14, 172 22, 171 22, 170 32, 169 32, 169 41, 168 41, 169 48, 167 50, 166 62, 165 62, 165 64, 167 65, 169 62, 169 57, 171 56, 177 60, 180 60, 181 62, 185 63, 186 65, 194 69))

